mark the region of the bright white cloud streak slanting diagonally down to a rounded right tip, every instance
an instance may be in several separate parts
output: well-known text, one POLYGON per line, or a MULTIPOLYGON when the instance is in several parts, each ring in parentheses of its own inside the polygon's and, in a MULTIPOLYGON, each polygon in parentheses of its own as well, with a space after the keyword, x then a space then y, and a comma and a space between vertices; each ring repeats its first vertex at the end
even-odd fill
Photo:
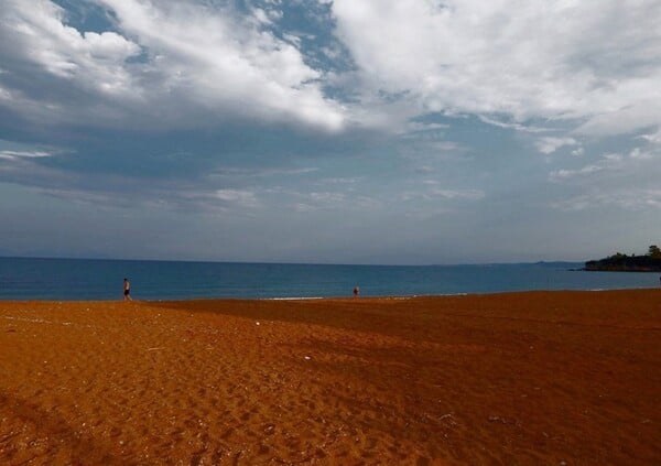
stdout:
POLYGON ((342 108, 321 91, 319 72, 270 32, 194 3, 99 1, 115 11, 120 30, 150 51, 162 85, 177 97, 251 118, 343 126, 342 108))

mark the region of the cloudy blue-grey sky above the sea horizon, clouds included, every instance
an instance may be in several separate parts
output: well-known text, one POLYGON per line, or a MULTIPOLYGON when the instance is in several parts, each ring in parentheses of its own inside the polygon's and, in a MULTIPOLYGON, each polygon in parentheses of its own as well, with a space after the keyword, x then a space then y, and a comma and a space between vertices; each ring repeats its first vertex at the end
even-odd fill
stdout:
POLYGON ((658 0, 0 0, 0 256, 661 242, 658 0))

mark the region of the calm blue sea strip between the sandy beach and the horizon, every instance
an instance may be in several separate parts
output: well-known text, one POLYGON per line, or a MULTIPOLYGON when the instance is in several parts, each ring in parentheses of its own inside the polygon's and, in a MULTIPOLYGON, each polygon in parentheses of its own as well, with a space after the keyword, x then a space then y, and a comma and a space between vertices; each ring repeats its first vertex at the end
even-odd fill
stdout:
POLYGON ((315 265, 0 258, 0 300, 362 296, 659 286, 657 273, 572 271, 582 263, 315 265))

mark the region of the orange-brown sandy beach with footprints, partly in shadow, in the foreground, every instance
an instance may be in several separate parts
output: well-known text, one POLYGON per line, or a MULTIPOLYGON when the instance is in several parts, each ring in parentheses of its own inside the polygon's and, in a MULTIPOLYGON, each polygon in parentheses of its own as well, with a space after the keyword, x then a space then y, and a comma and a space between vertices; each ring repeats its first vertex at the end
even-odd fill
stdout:
POLYGON ((661 464, 660 343, 661 290, 0 302, 0 464, 661 464))

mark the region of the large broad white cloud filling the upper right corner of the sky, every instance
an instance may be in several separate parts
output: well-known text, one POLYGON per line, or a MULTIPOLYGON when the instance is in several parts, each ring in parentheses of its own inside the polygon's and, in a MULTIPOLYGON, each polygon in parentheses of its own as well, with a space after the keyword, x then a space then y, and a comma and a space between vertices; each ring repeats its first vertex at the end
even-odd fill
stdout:
POLYGON ((661 122, 657 0, 335 0, 333 12, 365 101, 583 120, 597 136, 661 122))

